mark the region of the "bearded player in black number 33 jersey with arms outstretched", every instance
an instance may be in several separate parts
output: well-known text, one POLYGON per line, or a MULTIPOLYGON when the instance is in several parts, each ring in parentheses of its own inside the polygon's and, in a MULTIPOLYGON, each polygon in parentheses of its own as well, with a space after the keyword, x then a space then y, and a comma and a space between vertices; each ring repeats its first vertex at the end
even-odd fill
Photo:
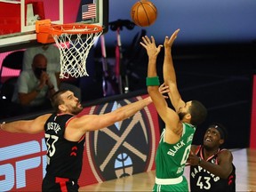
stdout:
POLYGON ((77 180, 83 164, 85 132, 99 130, 122 121, 145 108, 150 97, 117 108, 103 115, 76 116, 83 107, 70 91, 55 92, 52 96, 53 114, 38 116, 34 120, 20 120, 1 124, 6 132, 45 132, 47 165, 42 191, 78 191, 77 180))

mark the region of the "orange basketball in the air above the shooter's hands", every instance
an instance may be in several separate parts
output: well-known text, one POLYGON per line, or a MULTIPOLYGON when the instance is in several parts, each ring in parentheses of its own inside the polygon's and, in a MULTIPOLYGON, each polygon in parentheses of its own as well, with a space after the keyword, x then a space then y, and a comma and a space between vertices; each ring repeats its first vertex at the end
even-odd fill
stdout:
POLYGON ((132 5, 131 17, 137 26, 148 27, 156 21, 156 6, 148 0, 141 0, 132 5))

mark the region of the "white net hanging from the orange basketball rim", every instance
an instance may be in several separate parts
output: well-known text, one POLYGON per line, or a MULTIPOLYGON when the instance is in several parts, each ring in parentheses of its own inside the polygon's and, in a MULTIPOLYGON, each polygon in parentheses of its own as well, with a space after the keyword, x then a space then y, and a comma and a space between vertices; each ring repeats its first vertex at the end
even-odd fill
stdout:
MULTIPOLYGON (((66 31, 77 33, 81 29, 73 28, 66 31)), ((88 34, 68 34, 63 29, 60 36, 52 35, 60 50, 60 78, 89 76, 86 71, 86 59, 96 38, 101 33, 102 31, 88 34)))

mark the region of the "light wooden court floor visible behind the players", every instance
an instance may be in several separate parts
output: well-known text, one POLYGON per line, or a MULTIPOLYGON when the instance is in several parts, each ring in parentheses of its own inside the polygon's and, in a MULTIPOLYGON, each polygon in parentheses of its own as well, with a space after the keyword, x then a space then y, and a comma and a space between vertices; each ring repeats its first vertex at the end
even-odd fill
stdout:
MULTIPOLYGON (((236 191, 256 191, 256 150, 231 149, 236 166, 236 191)), ((185 169, 188 178, 188 167, 185 169)), ((80 188, 79 191, 151 191, 155 171, 142 172, 117 180, 108 180, 80 188)))

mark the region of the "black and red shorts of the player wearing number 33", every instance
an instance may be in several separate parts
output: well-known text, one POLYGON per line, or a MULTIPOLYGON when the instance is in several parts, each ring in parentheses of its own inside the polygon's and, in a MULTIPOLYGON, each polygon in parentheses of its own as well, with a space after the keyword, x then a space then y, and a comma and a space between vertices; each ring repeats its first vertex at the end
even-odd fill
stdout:
POLYGON ((79 185, 77 180, 70 180, 68 178, 50 177, 45 175, 42 191, 43 192, 78 192, 79 185))

